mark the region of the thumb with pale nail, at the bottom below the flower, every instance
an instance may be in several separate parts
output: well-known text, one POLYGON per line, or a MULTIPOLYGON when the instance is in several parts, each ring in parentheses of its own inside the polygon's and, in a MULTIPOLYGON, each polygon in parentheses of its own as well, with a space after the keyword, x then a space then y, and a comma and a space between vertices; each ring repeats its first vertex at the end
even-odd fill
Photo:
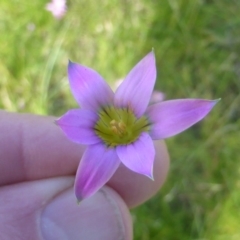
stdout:
POLYGON ((110 188, 77 205, 73 178, 0 189, 0 239, 132 239, 129 211, 110 188))

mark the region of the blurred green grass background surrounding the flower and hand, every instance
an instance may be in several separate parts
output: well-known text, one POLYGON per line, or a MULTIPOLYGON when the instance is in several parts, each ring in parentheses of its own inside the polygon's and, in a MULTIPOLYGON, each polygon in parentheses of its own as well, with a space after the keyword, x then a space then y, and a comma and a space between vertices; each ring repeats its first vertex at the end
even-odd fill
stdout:
POLYGON ((171 169, 157 196, 132 210, 135 239, 240 239, 240 1, 1 0, 0 108, 61 115, 77 107, 68 59, 110 84, 155 49, 156 89, 172 98, 222 98, 168 139, 171 169))

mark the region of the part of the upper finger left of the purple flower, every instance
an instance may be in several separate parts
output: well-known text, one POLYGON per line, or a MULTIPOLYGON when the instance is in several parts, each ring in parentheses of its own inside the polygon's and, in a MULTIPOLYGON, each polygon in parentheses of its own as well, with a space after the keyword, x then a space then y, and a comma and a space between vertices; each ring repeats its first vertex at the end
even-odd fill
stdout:
POLYGON ((0 186, 75 174, 84 147, 70 142, 54 120, 0 112, 0 186))

